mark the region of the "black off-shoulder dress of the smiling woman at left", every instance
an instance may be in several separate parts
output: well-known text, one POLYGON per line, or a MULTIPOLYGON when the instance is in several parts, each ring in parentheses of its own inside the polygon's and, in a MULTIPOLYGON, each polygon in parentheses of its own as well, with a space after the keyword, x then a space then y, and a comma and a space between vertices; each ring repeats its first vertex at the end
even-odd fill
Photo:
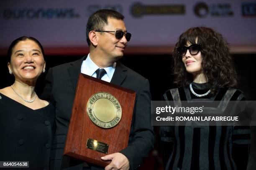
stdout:
POLYGON ((54 107, 33 110, 0 93, 0 108, 0 161, 29 161, 26 170, 49 170, 54 107))

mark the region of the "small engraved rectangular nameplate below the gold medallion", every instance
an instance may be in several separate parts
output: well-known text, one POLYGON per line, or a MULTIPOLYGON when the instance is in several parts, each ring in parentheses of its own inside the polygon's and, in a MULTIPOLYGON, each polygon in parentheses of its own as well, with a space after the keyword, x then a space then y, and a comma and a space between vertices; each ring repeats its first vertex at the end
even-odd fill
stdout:
POLYGON ((86 148, 108 154, 108 144, 87 138, 86 148))

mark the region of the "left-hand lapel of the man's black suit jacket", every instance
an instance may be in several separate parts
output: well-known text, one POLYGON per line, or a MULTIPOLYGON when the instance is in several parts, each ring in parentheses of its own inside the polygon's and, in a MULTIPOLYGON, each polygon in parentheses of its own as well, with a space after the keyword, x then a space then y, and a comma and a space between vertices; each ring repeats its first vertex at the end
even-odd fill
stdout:
POLYGON ((82 62, 86 58, 87 58, 87 56, 84 56, 80 60, 70 63, 71 66, 68 68, 69 76, 72 81, 74 91, 76 91, 76 88, 77 88, 77 81, 78 81, 79 74, 81 73, 82 62))

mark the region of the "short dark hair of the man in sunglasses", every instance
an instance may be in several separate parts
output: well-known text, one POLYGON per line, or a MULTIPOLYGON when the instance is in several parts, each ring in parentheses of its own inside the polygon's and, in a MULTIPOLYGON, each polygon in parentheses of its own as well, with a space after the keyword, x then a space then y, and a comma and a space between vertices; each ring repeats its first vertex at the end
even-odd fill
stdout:
POLYGON ((89 33, 92 30, 102 30, 105 25, 108 25, 108 18, 114 18, 117 20, 123 20, 124 16, 115 10, 97 10, 95 13, 93 13, 87 22, 86 25, 86 40, 88 45, 90 46, 90 39, 89 39, 89 33))

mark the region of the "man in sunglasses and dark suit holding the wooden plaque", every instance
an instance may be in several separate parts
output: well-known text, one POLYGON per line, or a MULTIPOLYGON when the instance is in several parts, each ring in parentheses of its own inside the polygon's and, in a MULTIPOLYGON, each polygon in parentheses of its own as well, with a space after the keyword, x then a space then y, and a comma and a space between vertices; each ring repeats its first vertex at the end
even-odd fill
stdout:
POLYGON ((52 169, 97 169, 86 167, 79 164, 78 160, 62 155, 80 73, 136 91, 128 147, 102 157, 102 160, 111 160, 105 170, 138 169, 143 158, 147 157, 154 147, 148 80, 118 61, 131 38, 123 18, 122 14, 113 10, 98 10, 93 13, 87 22, 86 30, 90 48, 88 56, 49 69, 41 97, 51 101, 56 108, 56 136, 51 148, 52 169))

